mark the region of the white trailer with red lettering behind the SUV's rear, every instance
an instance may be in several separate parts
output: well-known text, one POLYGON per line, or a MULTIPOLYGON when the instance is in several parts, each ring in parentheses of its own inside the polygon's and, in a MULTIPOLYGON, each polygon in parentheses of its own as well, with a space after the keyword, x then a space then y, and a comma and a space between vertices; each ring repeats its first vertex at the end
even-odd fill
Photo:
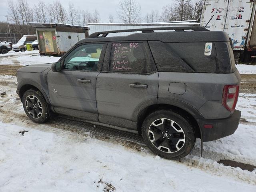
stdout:
POLYGON ((256 3, 254 0, 205 0, 200 26, 227 32, 236 62, 256 56, 256 3))

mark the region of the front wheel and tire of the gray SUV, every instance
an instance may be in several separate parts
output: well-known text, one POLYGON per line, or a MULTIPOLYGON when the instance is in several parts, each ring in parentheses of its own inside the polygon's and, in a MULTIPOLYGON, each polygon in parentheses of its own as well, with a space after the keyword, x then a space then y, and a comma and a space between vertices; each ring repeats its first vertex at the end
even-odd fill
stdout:
POLYGON ((27 116, 36 123, 49 120, 48 105, 40 91, 27 90, 22 96, 22 104, 27 116))

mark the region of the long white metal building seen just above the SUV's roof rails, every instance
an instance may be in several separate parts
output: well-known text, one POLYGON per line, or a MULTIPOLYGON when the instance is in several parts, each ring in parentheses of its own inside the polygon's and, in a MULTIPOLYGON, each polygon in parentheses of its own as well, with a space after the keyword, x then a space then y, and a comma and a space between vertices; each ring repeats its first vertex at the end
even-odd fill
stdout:
MULTIPOLYGON (((196 22, 196 20, 155 22, 155 23, 135 23, 135 24, 88 23, 88 26, 90 27, 89 34, 93 34, 94 32, 112 31, 112 30, 159 28, 159 27, 170 27, 170 26, 199 26, 199 25, 200 25, 200 23, 196 22)), ((115 33, 115 34, 109 34, 108 36, 122 36, 122 35, 129 35, 132 33, 135 33, 135 32, 115 33)))

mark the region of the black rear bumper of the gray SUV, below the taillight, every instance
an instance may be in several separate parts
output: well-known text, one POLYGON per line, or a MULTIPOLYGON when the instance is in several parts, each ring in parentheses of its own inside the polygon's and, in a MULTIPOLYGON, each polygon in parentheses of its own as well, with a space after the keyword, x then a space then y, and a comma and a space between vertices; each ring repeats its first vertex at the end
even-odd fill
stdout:
POLYGON ((241 111, 234 113, 225 119, 196 119, 202 131, 203 142, 217 140, 222 137, 232 135, 238 128, 241 111), (212 128, 204 128, 204 125, 213 125, 212 128))

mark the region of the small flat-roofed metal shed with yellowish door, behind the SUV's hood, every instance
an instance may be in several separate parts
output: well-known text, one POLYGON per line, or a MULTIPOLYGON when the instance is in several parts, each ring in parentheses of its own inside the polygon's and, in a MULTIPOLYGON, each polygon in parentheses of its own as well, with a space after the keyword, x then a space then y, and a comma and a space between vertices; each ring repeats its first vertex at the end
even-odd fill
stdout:
POLYGON ((62 55, 88 36, 87 26, 63 23, 29 23, 36 28, 40 54, 62 55))

